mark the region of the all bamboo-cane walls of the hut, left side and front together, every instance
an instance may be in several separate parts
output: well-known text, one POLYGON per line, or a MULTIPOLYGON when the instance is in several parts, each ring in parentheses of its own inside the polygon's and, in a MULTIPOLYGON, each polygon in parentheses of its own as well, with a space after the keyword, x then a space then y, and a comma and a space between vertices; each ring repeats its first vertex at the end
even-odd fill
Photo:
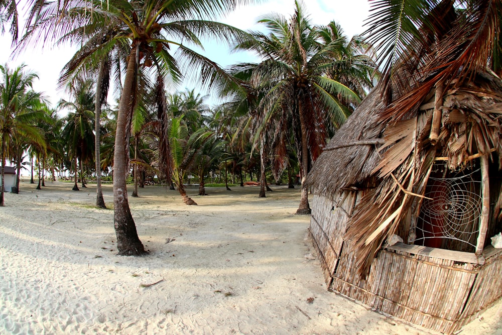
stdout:
POLYGON ((473 253, 398 244, 382 249, 367 278, 355 268, 356 250, 343 241, 362 192, 333 201, 314 195, 310 234, 329 290, 429 329, 452 333, 502 296, 502 250, 473 253), (316 208, 314 210, 314 208, 316 208))

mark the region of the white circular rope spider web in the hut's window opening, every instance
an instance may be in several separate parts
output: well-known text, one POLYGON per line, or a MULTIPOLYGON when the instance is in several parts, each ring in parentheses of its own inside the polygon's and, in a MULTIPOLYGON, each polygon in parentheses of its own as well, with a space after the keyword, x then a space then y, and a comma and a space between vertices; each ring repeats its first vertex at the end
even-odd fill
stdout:
POLYGON ((420 210, 421 237, 444 238, 475 247, 481 214, 480 181, 469 174, 452 178, 429 178, 420 210), (428 199, 430 198, 430 199, 428 199))

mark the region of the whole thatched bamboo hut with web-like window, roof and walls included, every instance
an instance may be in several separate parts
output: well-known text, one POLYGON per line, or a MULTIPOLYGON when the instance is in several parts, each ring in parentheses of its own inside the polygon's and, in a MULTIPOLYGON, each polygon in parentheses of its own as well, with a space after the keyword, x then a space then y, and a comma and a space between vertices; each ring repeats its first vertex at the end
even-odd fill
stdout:
POLYGON ((452 333, 502 296, 490 240, 502 230, 502 80, 466 63, 458 36, 435 36, 362 101, 307 186, 328 288, 452 333))

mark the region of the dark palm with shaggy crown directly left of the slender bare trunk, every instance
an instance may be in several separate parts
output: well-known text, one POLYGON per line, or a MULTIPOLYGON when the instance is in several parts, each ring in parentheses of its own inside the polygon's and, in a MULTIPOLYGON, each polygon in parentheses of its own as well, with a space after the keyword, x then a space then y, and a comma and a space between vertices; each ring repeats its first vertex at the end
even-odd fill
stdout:
POLYGON ((60 108, 70 109, 70 112, 65 118, 65 126, 63 128, 62 137, 68 145, 68 154, 72 158, 75 166, 75 183, 73 190, 78 191, 78 162, 80 163, 81 185, 86 187, 84 183, 83 162, 91 159, 94 151, 94 94, 93 82, 91 80, 77 80, 75 84, 70 84, 68 91, 73 96, 74 101, 66 101, 61 99, 58 103, 60 108))

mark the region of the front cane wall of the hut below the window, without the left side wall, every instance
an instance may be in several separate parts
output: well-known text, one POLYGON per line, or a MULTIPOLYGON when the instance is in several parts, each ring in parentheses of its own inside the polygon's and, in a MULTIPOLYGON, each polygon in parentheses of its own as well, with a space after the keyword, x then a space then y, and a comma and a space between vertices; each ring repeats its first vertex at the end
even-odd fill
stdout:
POLYGON ((361 279, 354 250, 345 243, 330 289, 410 323, 451 333, 502 295, 501 253, 476 268, 384 249, 367 279, 361 279))

